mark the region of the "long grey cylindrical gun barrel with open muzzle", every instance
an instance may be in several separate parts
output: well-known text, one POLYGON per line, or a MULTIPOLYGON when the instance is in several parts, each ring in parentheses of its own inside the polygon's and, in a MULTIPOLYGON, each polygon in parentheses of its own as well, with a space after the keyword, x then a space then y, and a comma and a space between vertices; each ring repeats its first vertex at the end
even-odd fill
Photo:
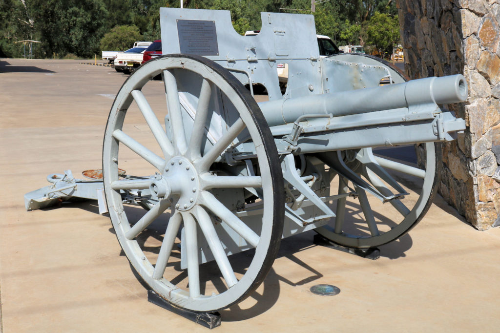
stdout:
POLYGON ((464 101, 467 84, 461 74, 427 77, 404 83, 260 102, 269 126, 294 122, 311 113, 333 116, 397 109, 411 105, 464 101), (277 112, 281 110, 281 112, 277 112))

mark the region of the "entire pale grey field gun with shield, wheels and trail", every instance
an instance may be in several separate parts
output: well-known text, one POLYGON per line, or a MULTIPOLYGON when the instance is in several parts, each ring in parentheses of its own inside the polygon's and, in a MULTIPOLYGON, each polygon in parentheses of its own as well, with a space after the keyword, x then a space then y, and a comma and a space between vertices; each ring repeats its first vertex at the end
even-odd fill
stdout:
POLYGON ((89 192, 103 186, 134 269, 160 297, 198 312, 248 296, 282 237, 314 229, 369 248, 406 233, 435 193, 434 142, 465 128, 437 105, 466 99, 463 76, 405 82, 380 59, 320 57, 311 15, 261 17, 257 35, 241 36, 228 11, 161 8, 166 55, 117 93, 102 180, 53 175, 51 187, 26 194, 26 208, 57 196, 98 198, 89 192), (288 66, 285 91, 278 63, 288 66), (268 100, 257 103, 256 84, 268 100), (415 143, 418 165, 376 150, 415 143), (384 218, 390 209, 399 219, 384 218))

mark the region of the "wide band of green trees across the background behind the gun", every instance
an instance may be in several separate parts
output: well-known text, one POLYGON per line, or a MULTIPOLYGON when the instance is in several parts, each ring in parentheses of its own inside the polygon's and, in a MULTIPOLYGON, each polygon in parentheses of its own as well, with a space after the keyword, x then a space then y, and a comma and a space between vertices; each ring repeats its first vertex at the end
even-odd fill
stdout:
MULTIPOLYGON (((22 44, 14 42, 24 39, 41 41, 36 44, 38 57, 67 53, 88 57, 99 49, 126 49, 136 40, 159 39, 159 8, 179 4, 179 0, 0 0, 0 56, 21 56, 22 44), (117 26, 129 28, 117 32, 113 30, 117 26), (116 35, 103 37, 106 32, 116 35)), ((234 29, 241 34, 260 29, 261 11, 311 13, 310 0, 183 0, 183 6, 230 10, 234 29)), ((388 50, 398 39, 395 0, 330 0, 317 3, 312 14, 316 32, 338 45, 373 44, 388 50)))

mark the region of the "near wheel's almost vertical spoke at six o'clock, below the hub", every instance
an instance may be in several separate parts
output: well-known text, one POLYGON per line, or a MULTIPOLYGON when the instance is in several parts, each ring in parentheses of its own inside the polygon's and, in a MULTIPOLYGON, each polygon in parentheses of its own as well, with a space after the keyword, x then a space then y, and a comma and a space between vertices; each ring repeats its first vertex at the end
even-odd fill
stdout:
POLYGON ((196 235, 196 222, 189 212, 182 212, 184 221, 184 235, 182 245, 186 247, 187 280, 189 282, 189 296, 199 296, 199 264, 198 264, 198 239, 196 235))

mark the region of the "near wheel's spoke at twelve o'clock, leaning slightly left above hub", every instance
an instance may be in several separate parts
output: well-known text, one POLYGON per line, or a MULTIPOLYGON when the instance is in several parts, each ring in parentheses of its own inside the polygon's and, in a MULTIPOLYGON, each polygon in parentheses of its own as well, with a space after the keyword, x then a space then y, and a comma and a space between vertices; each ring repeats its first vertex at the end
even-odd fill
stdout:
POLYGON ((166 106, 170 123, 172 126, 173 141, 180 153, 186 151, 187 143, 184 132, 184 123, 182 121, 182 112, 180 110, 179 95, 175 76, 170 70, 163 70, 163 80, 165 83, 166 106))

